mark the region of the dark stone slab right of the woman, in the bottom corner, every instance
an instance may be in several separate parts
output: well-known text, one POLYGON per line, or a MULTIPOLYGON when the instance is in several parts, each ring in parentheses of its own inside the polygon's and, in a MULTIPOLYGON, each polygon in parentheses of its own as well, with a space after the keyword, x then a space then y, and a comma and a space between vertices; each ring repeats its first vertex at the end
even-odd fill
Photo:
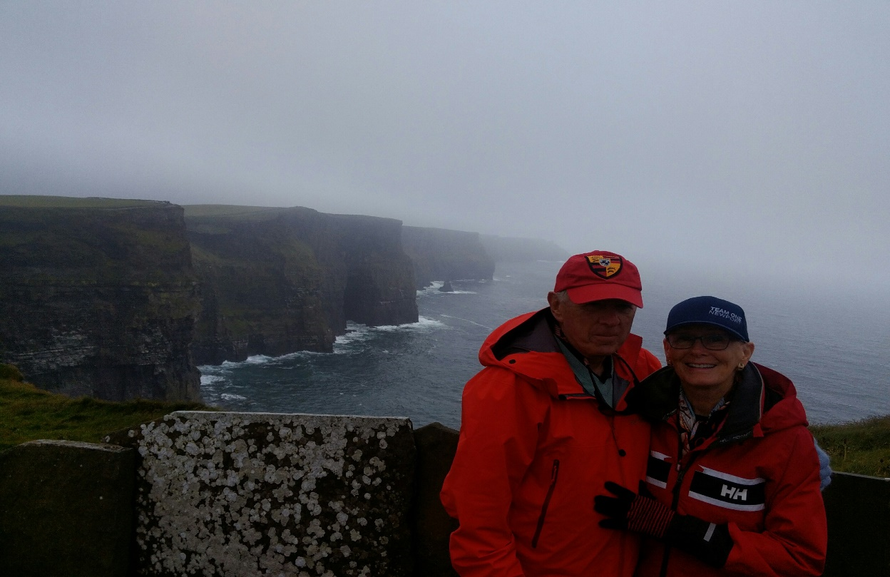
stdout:
POLYGON ((834 473, 822 497, 829 521, 825 577, 890 575, 890 479, 834 473))

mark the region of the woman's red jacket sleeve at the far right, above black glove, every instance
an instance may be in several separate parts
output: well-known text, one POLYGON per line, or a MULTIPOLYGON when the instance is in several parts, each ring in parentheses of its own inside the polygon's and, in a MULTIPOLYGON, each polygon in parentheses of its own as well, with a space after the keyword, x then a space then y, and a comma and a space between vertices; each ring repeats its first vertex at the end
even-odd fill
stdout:
POLYGON ((813 436, 796 427, 785 473, 767 494, 763 532, 729 524, 734 545, 724 565, 732 575, 821 575, 828 547, 819 458, 813 436))

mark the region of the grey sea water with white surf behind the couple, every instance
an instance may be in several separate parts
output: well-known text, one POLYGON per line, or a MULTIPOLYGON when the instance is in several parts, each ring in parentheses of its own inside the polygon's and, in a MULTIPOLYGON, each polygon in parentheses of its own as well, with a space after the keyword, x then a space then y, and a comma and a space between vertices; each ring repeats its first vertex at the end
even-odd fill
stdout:
MULTIPOLYGON (((350 323, 333 354, 254 356, 202 366, 204 401, 224 410, 408 417, 415 427, 460 426, 460 395, 481 367, 479 346, 517 314, 546 306, 562 263, 498 264, 494 280, 452 280, 455 292, 417 292, 420 321, 368 328, 350 323)), ((713 295, 745 309, 753 360, 794 381, 811 423, 890 414, 890 312, 844 295, 765 287, 751 280, 668 280, 641 266, 644 308, 634 332, 664 361, 670 307, 713 295), (723 284, 721 284, 721 282, 723 284)))

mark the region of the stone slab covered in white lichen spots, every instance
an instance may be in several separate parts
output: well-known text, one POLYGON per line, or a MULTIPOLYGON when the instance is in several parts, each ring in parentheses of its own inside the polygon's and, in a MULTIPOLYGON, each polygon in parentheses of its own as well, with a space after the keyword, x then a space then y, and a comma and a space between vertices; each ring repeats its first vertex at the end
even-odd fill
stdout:
POLYGON ((182 411, 132 439, 138 574, 412 572, 409 419, 182 411))

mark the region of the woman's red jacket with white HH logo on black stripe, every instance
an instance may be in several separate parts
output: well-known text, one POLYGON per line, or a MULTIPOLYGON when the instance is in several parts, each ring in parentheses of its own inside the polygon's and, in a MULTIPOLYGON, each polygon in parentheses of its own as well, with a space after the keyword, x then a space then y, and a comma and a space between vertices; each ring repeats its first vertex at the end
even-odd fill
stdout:
MULTIPOLYGON (((748 363, 723 424, 677 464, 679 383, 666 367, 637 388, 656 416, 647 485, 685 515, 729 524, 733 546, 714 569, 678 549, 646 540, 637 575, 821 575, 828 544, 819 457, 789 378, 748 363), (660 399, 660 400, 659 400, 660 399)), ((633 486, 633 485, 626 485, 633 486)))

